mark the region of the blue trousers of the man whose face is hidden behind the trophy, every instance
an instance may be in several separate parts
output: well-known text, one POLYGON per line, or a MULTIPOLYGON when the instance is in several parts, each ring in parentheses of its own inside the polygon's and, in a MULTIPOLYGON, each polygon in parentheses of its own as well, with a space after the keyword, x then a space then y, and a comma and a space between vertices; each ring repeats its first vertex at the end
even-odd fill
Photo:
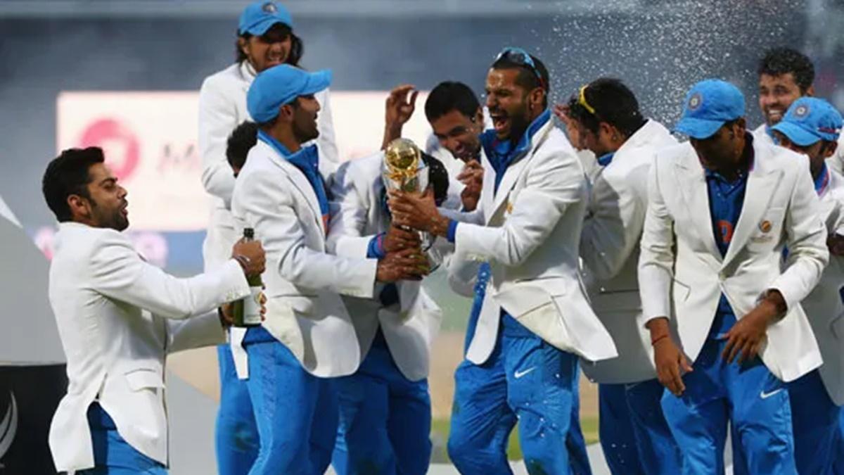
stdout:
POLYGON ((428 380, 404 377, 381 330, 357 372, 335 385, 340 423, 332 463, 339 475, 428 472, 428 380))

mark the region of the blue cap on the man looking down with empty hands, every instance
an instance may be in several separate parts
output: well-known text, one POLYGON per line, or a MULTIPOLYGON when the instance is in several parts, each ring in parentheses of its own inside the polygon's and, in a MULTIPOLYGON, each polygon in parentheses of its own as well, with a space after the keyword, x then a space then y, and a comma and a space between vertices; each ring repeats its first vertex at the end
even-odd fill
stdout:
POLYGON ((674 132, 692 139, 708 139, 731 120, 744 117, 744 94, 721 79, 706 79, 686 95, 683 117, 674 132))

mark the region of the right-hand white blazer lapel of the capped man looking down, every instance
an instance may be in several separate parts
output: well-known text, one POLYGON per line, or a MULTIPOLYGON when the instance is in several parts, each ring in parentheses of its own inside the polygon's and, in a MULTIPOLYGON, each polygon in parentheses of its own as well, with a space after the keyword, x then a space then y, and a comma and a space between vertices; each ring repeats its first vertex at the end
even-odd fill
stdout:
POLYGON ((771 203, 771 195, 782 178, 782 172, 776 168, 767 167, 766 157, 760 156, 759 152, 759 149, 755 150, 754 166, 747 176, 744 205, 742 205, 741 216, 738 217, 738 223, 733 232, 733 239, 727 248, 727 255, 724 256, 724 266, 735 258, 756 227, 760 225, 762 215, 771 203))

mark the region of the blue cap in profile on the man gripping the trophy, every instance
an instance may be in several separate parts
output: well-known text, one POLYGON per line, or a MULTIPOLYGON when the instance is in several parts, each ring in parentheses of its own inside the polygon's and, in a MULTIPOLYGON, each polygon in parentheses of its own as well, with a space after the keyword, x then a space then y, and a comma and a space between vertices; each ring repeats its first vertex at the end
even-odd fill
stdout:
POLYGON ((331 84, 331 71, 308 73, 289 64, 279 64, 257 75, 246 92, 246 110, 257 123, 265 123, 279 115, 279 108, 296 97, 309 96, 331 84))

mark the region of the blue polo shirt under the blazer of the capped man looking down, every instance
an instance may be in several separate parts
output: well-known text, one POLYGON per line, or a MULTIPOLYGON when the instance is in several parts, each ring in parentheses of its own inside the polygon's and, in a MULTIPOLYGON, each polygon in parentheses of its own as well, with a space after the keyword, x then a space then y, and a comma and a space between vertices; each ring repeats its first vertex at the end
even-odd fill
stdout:
MULTIPOLYGON (((745 167, 738 170, 738 177, 728 180, 718 172, 705 170, 706 190, 709 194, 709 212, 712 220, 712 231, 715 243, 721 251, 721 257, 727 254, 727 249, 733 241, 733 232, 738 224, 738 217, 744 206, 744 194, 747 190, 748 172, 753 169, 753 137, 747 134, 747 145, 744 146, 745 167)), ((718 301, 715 319, 709 330, 709 337, 720 339, 736 323, 736 315, 724 294, 718 301)))

